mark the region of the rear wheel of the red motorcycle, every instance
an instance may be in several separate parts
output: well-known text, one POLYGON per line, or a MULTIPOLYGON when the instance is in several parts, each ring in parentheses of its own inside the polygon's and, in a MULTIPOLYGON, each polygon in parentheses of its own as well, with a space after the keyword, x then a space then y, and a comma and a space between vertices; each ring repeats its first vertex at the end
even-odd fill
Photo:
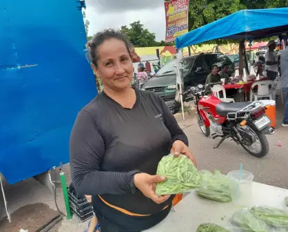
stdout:
POLYGON ((265 157, 265 155, 267 155, 269 152, 269 143, 268 143, 267 137, 261 131, 258 131, 256 128, 254 128, 252 124, 248 123, 246 126, 249 128, 249 132, 253 134, 254 136, 256 136, 256 142, 258 141, 258 144, 260 144, 260 149, 259 151, 256 151, 256 149, 252 147, 253 145, 256 144, 256 142, 251 144, 251 146, 247 146, 243 144, 242 142, 240 142, 241 146, 243 146, 243 148, 250 155, 253 155, 258 158, 265 157))

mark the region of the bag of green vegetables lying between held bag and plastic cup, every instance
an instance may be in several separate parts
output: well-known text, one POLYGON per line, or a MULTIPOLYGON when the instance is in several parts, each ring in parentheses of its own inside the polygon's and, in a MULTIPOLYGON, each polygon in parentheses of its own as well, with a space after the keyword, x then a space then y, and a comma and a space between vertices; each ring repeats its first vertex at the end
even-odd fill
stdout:
POLYGON ((237 187, 236 182, 217 170, 215 173, 201 171, 200 174, 203 186, 196 189, 198 195, 217 202, 232 202, 232 194, 237 187))

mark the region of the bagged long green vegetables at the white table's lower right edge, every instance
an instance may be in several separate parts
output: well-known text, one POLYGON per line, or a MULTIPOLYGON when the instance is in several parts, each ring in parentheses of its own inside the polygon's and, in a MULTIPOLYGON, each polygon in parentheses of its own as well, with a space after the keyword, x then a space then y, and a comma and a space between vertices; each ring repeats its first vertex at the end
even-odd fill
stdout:
POLYGON ((288 213, 268 206, 253 206, 251 213, 272 226, 288 226, 288 213))

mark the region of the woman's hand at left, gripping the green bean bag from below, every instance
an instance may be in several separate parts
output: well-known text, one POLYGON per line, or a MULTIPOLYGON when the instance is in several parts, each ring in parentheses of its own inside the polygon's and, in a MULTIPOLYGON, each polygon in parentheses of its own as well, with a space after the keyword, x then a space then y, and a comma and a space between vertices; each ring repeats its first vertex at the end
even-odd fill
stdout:
POLYGON ((156 183, 165 181, 165 177, 160 175, 149 175, 147 173, 137 173, 134 175, 134 185, 139 189, 145 197, 150 198, 157 204, 167 201, 170 195, 163 195, 158 197, 155 193, 156 183))

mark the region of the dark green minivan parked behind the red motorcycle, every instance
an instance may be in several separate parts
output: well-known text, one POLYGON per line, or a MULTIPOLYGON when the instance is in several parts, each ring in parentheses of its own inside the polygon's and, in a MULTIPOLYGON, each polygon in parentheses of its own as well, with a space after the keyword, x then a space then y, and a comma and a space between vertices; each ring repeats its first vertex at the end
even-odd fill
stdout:
MULTIPOLYGON (((212 66, 229 66, 229 74, 235 75, 235 66, 232 61, 222 53, 200 53, 183 58, 183 84, 184 90, 198 84, 205 84, 206 78, 212 70, 212 66)), ((154 77, 147 81, 141 88, 158 93, 165 101, 172 113, 178 112, 180 104, 175 100, 176 96, 176 59, 169 61, 154 77)), ((185 96, 183 96, 185 99, 185 96)))

